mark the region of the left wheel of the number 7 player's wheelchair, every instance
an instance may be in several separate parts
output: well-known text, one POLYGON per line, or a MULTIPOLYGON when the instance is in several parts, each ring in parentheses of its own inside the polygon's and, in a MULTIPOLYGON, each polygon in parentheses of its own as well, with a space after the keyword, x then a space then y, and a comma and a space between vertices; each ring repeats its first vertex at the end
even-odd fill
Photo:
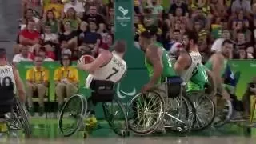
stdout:
POLYGON ((62 107, 58 128, 65 136, 76 133, 83 123, 87 111, 87 101, 81 94, 74 94, 62 107))

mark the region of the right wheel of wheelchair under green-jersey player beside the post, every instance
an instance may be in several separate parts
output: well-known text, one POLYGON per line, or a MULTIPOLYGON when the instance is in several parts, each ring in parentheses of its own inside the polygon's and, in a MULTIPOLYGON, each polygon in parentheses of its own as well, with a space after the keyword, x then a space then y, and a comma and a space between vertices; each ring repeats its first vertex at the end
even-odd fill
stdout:
POLYGON ((189 98, 168 98, 165 127, 179 133, 190 132, 195 122, 195 109, 189 98))

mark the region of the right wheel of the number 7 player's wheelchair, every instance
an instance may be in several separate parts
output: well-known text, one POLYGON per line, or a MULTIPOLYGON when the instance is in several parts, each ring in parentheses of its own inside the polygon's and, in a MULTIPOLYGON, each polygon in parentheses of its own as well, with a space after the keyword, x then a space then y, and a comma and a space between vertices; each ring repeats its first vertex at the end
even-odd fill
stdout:
POLYGON ((106 121, 114 133, 122 137, 128 135, 128 119, 122 102, 114 98, 112 102, 102 103, 102 108, 106 121))

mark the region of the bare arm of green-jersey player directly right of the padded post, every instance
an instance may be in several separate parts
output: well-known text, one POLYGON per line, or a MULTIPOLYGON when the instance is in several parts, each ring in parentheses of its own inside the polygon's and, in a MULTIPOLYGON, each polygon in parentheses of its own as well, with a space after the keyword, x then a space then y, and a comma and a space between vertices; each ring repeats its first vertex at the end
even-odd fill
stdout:
POLYGON ((150 84, 155 84, 158 82, 159 78, 161 78, 163 66, 161 56, 158 52, 158 48, 154 45, 150 45, 150 47, 146 50, 146 58, 154 67, 153 76, 150 78, 150 84))

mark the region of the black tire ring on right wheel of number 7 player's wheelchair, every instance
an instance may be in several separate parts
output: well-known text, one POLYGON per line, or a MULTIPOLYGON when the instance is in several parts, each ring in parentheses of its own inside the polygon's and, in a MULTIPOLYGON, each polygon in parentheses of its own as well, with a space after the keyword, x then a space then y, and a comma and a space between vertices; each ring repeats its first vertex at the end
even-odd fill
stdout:
POLYGON ((110 128, 114 131, 115 134, 118 134, 121 137, 126 137, 129 135, 128 118, 127 118, 127 114, 126 114, 126 109, 122 105, 122 102, 120 102, 120 100, 118 98, 114 97, 113 102, 116 102, 118 104, 119 108, 121 108, 121 110, 122 110, 122 114, 124 116, 124 121, 125 121, 124 130, 117 130, 114 126, 114 123, 111 122, 110 111, 107 108, 107 102, 102 103, 102 109, 103 109, 104 116, 106 118, 106 121, 109 123, 110 128))

